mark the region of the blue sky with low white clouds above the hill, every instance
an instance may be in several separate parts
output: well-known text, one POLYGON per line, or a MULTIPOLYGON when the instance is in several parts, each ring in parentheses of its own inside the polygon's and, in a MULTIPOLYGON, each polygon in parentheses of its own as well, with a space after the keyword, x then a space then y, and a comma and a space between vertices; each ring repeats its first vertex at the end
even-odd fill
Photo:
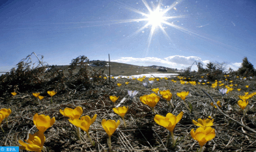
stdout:
POLYGON ((80 55, 108 60, 110 54, 111 61, 178 69, 194 61, 225 61, 237 69, 245 56, 256 66, 255 1, 44 0, 0 5, 0 71, 32 52, 43 55, 49 65, 68 65, 80 55), (152 24, 141 29, 153 23, 149 9, 166 10, 152 34, 152 24))

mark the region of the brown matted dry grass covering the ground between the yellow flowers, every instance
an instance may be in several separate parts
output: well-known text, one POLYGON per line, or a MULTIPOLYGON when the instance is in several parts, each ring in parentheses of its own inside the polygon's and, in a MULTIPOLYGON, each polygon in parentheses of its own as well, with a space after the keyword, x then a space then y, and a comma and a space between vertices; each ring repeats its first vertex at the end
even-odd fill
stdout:
MULTIPOLYGON (((129 69, 122 69, 124 72, 113 70, 113 73, 116 75, 129 75, 129 73, 125 73, 129 69)), ((134 69, 134 71, 137 70, 134 69)), ((243 116, 243 112, 237 105, 238 95, 243 95, 245 91, 247 92, 247 88, 244 87, 245 85, 250 84, 248 91, 250 93, 255 92, 255 79, 246 81, 234 80, 233 84, 238 84, 235 88, 242 88, 244 91, 238 92, 234 89, 223 99, 221 99, 218 90, 211 88, 210 85, 181 85, 178 81, 173 83, 170 79, 162 79, 159 82, 154 81, 152 88, 159 88, 160 90, 170 89, 173 94, 172 101, 175 105, 175 108, 172 108, 161 98, 155 106, 156 112, 163 116, 166 116, 168 112, 176 116, 181 111, 184 112, 181 121, 174 130, 174 135, 180 139, 175 149, 166 146, 168 130, 153 121, 155 113, 151 112, 151 109, 139 99, 144 94, 153 93, 151 87, 145 88, 141 82, 131 79, 112 81, 113 83, 111 84, 108 84, 108 81, 106 81, 104 85, 94 86, 86 90, 56 90, 57 94, 53 96, 52 104, 50 104, 50 96, 47 96, 46 92, 48 90, 46 89, 21 92, 14 97, 11 94, 5 94, 0 98, 0 107, 11 108, 12 113, 8 117, 8 124, 6 121, 3 121, 1 124, 5 132, 0 132, 0 145, 18 146, 18 140, 24 141, 29 132, 35 133, 37 128, 33 128, 33 116, 35 113, 39 113, 48 115, 51 118, 55 117, 56 119, 55 124, 45 132, 46 141, 44 145, 49 151, 107 151, 108 136, 101 126, 101 121, 103 119, 121 121, 120 117, 113 112, 112 108, 114 105, 109 99, 110 95, 116 95, 120 96, 120 98, 116 101, 115 105, 122 98, 126 98, 121 105, 129 106, 129 111, 125 115, 127 128, 124 128, 121 123, 111 138, 113 151, 197 151, 200 146, 190 136, 190 130, 197 128, 192 123, 192 120, 205 118, 210 115, 214 119, 213 128, 216 131, 216 136, 213 140, 207 142, 204 151, 256 150, 255 133, 234 123, 234 121, 223 116, 220 112, 215 112, 215 109, 212 109, 210 105, 212 101, 201 90, 203 89, 208 92, 215 101, 220 100, 222 103, 221 109, 228 116, 255 130, 255 97, 247 105, 246 116, 243 116), (129 85, 124 84, 127 81, 130 82, 129 85), (122 83, 122 86, 117 87, 117 83, 122 83), (139 93, 131 100, 127 95, 127 90, 138 90, 139 93), (192 113, 186 109, 183 101, 176 96, 176 93, 181 91, 189 91, 186 102, 190 102, 193 106, 192 113), (41 95, 46 96, 41 101, 41 104, 32 95, 33 92, 40 92, 41 95), (75 127, 69 123, 67 117, 62 116, 59 112, 59 109, 66 107, 74 109, 77 106, 83 108, 82 116, 88 115, 92 117, 94 114, 97 114, 97 120, 90 126, 89 130, 92 140, 95 141, 95 146, 90 144, 83 131, 82 139, 78 141, 75 127), (232 110, 229 110, 228 106, 232 107, 232 110)), ((194 81, 193 78, 191 78, 191 81, 194 81)))

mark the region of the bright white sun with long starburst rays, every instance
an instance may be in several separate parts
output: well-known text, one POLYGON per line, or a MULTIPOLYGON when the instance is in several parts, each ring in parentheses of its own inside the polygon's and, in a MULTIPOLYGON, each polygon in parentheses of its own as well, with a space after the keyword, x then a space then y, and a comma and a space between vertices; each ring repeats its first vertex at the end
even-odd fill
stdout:
MULTIPOLYGON (((119 1, 116 1, 117 4, 119 4, 121 7, 127 9, 127 10, 131 10, 135 13, 141 14, 143 17, 142 18, 138 18, 138 19, 126 19, 126 20, 108 20, 108 21, 89 21, 89 22, 66 22, 66 23, 53 23, 53 24, 77 24, 77 23, 101 23, 101 24, 94 24, 94 25, 88 25, 88 26, 79 26, 79 27, 75 27, 75 28, 85 28, 85 27, 93 27, 93 26, 104 26, 104 25, 113 25, 113 24, 120 24, 120 23, 130 23, 130 22, 147 22, 144 26, 142 26, 141 28, 139 28, 138 30, 136 30, 132 35, 137 34, 141 31, 143 31, 145 28, 149 28, 151 26, 149 35, 148 35, 148 45, 147 45, 147 51, 149 50, 150 44, 151 44, 151 40, 152 40, 152 36, 154 34, 154 32, 156 31, 156 28, 161 29, 161 31, 166 35, 166 37, 170 39, 170 36, 168 35, 168 33, 166 32, 165 28, 163 27, 164 24, 173 27, 175 29, 178 29, 181 32, 184 33, 188 33, 190 35, 194 35, 197 36, 199 39, 204 40, 204 41, 208 41, 210 43, 217 43, 219 45, 222 46, 226 46, 226 47, 230 47, 230 48, 234 48, 233 46, 224 44, 222 42, 218 42, 215 40, 212 40, 204 35, 200 35, 196 32, 190 31, 184 27, 175 25, 173 22, 168 22, 168 20, 172 20, 172 19, 176 19, 176 18, 184 18, 187 15, 178 15, 178 16, 168 16, 167 13, 168 11, 174 9, 178 4, 180 4, 182 0, 177 0, 175 1, 172 5, 170 5, 169 7, 165 7, 165 9, 161 9, 162 6, 162 0, 158 1, 157 6, 155 7, 152 4, 152 8, 150 8, 149 4, 146 2, 146 0, 142 0, 143 4, 145 5, 145 7, 148 10, 148 13, 144 13, 141 12, 139 10, 136 10, 130 6, 124 6, 124 4, 121 4, 119 1), (152 15, 152 16, 151 16, 152 15), (153 21, 154 20, 154 21, 153 21)), ((175 9, 176 10, 176 9, 175 9)), ((234 48, 234 49, 238 49, 238 48, 234 48)), ((238 49, 241 50, 241 49, 238 49)))

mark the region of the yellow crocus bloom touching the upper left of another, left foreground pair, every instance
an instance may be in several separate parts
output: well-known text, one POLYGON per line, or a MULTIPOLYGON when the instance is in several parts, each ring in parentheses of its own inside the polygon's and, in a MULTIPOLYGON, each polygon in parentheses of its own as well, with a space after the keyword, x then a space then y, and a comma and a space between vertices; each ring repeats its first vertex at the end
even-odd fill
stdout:
POLYGON ((64 110, 59 109, 59 112, 66 117, 69 117, 71 120, 79 119, 83 113, 83 109, 81 106, 77 106, 75 109, 65 108, 64 110))

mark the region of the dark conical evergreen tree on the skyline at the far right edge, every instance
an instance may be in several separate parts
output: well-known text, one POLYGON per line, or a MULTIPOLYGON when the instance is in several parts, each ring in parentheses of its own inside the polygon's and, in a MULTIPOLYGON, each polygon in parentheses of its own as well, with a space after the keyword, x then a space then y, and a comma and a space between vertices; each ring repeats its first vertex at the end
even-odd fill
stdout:
POLYGON ((255 69, 253 68, 253 65, 248 61, 247 57, 243 58, 242 65, 237 70, 237 73, 245 77, 255 75, 255 69))

